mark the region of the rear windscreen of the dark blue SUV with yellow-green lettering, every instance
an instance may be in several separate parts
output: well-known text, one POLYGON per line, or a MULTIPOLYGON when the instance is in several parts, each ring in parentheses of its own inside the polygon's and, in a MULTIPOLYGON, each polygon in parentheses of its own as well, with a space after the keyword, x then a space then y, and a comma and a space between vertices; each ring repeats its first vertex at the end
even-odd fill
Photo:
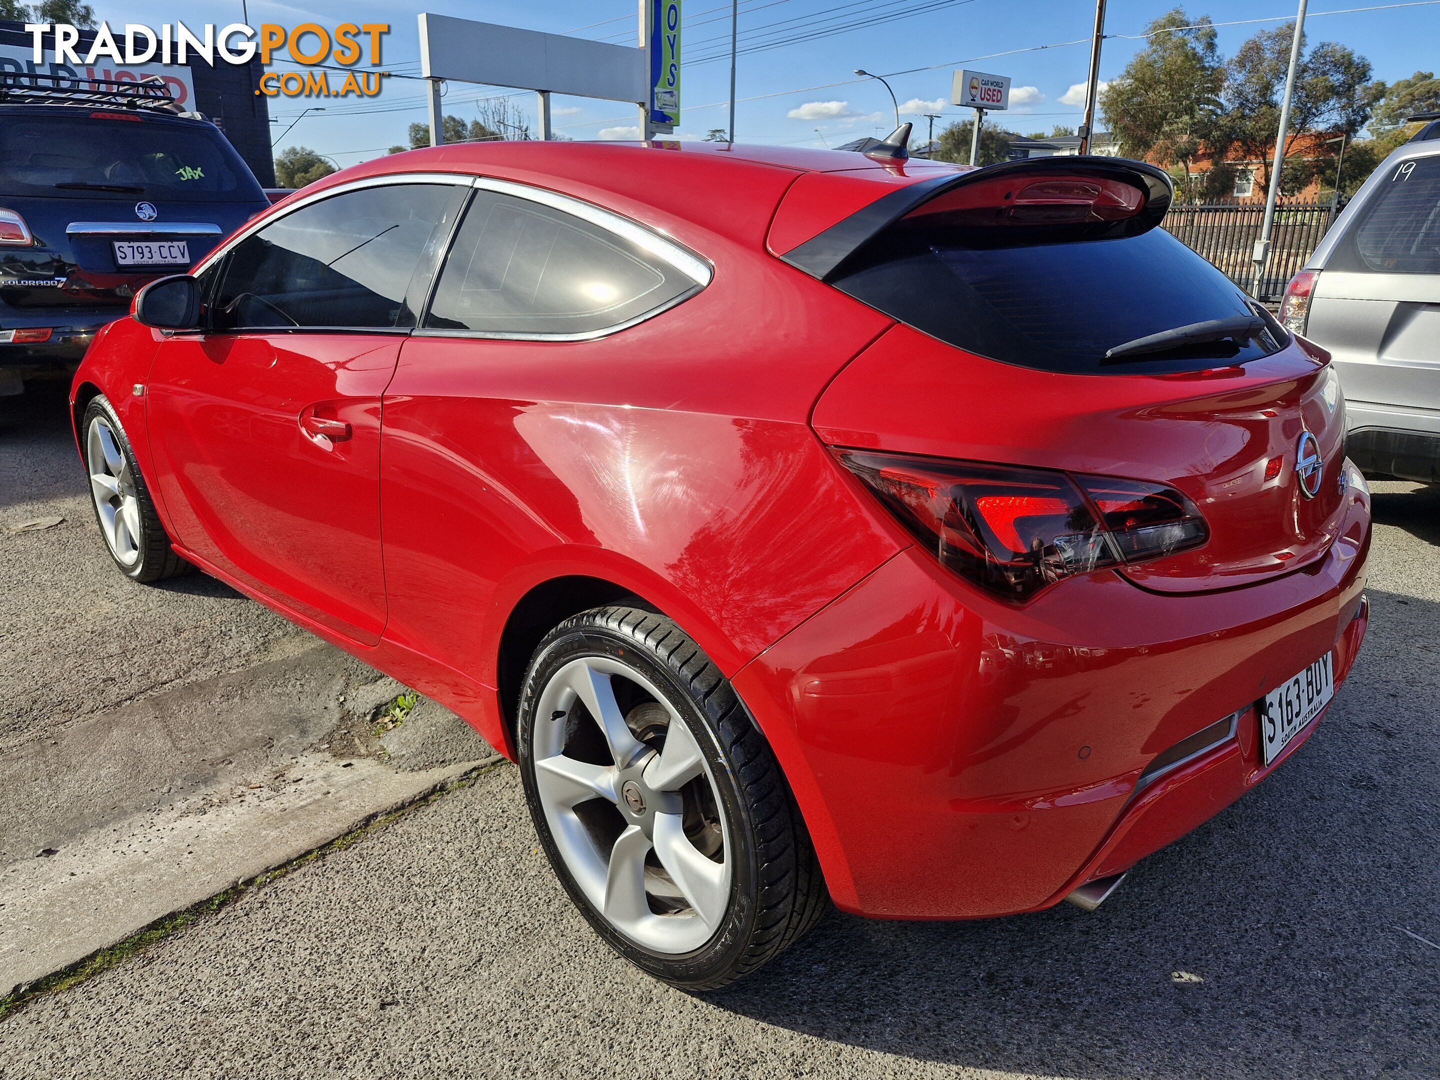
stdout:
POLYGON ((0 192, 180 202, 265 199, 219 131, 138 118, 0 118, 0 192))

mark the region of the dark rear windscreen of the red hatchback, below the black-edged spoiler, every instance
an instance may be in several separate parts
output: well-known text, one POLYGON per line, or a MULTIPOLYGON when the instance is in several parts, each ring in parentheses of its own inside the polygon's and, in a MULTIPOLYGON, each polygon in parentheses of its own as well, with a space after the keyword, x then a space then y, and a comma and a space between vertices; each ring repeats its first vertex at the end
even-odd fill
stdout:
POLYGON ((1024 243, 1004 229, 901 223, 832 284, 969 353, 1047 372, 1136 374, 1274 351, 1283 331, 1225 275, 1162 229, 1024 243), (1195 323, 1266 318, 1259 340, 1223 338, 1107 360, 1112 348, 1195 323))

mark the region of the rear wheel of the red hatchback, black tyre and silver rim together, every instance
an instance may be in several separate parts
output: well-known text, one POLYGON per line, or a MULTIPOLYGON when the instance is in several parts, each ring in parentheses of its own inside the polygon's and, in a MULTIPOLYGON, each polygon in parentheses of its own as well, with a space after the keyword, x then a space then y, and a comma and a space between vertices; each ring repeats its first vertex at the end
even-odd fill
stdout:
POLYGON ((520 700, 530 812, 611 948, 723 986, 824 914, 809 835, 734 690, 662 615, 598 608, 540 642, 520 700))

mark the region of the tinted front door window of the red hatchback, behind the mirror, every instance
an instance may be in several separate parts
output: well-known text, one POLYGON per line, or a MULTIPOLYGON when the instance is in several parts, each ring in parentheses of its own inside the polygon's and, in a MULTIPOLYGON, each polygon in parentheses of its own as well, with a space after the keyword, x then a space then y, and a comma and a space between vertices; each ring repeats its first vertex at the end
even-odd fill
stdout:
POLYGON ((217 330, 403 328, 410 276, 452 184, 366 187, 285 215, 235 246, 212 302, 217 330))

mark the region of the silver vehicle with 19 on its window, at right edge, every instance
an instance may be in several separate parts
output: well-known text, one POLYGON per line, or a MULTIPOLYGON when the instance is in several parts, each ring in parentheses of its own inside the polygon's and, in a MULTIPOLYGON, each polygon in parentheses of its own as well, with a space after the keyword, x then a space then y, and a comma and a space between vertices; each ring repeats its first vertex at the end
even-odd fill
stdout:
POLYGON ((1371 477, 1440 484, 1440 118, 1355 193, 1280 321, 1335 359, 1349 458, 1371 477))

